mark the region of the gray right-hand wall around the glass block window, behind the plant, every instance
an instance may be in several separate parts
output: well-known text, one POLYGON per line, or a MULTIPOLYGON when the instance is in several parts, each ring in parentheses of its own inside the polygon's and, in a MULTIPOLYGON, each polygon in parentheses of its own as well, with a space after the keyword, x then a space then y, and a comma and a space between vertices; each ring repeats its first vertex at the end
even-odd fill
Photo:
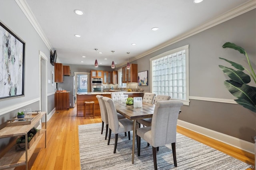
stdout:
MULTIPOLYGON (((138 64, 138 72, 150 70, 149 59, 184 45, 189 45, 189 95, 217 99, 236 99, 224 86, 228 79, 218 65, 230 65, 218 59, 223 57, 249 68, 246 57, 234 49, 223 49, 225 42, 243 47, 256 69, 256 10, 237 16, 194 36, 132 61, 138 64), (143 67, 142 67, 143 66, 143 67)), ((121 68, 121 67, 119 67, 121 68)), ((148 73, 150 82, 150 71, 148 73)), ((253 81, 250 85, 255 87, 253 81)), ((140 86, 142 87, 142 86, 140 86)), ((151 84, 143 86, 150 91, 151 84)), ((228 134, 248 142, 256 135, 256 113, 237 104, 218 103, 190 99, 189 106, 182 106, 179 119, 217 132, 228 134)))

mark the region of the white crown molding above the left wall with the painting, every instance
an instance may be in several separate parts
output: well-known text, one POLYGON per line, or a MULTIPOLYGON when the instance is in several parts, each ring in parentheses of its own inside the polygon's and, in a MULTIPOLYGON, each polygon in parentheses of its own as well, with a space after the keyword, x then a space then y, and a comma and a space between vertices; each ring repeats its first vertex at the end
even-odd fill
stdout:
POLYGON ((52 45, 50 44, 49 40, 45 36, 42 28, 38 24, 36 17, 34 16, 33 12, 31 11, 30 7, 28 6, 28 3, 26 0, 15 0, 15 2, 18 4, 22 12, 25 14, 25 16, 28 18, 28 21, 32 24, 40 38, 43 40, 45 45, 50 51, 54 51, 52 48, 52 45))

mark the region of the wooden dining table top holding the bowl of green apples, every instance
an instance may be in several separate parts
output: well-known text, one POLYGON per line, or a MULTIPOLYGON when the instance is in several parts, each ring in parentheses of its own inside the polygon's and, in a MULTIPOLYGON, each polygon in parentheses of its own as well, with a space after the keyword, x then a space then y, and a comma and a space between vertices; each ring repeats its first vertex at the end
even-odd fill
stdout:
POLYGON ((130 120, 150 118, 154 113, 154 104, 142 103, 142 107, 135 108, 133 105, 126 105, 120 101, 114 101, 116 111, 130 120))

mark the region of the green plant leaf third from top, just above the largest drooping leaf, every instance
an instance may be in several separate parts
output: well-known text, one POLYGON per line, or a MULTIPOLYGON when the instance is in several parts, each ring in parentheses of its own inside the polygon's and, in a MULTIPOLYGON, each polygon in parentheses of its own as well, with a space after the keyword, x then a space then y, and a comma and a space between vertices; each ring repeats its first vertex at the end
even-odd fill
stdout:
POLYGON ((240 84, 247 84, 250 83, 251 78, 249 75, 244 73, 243 71, 234 70, 229 67, 225 67, 223 65, 219 65, 220 69, 222 69, 223 73, 228 75, 228 77, 240 84))

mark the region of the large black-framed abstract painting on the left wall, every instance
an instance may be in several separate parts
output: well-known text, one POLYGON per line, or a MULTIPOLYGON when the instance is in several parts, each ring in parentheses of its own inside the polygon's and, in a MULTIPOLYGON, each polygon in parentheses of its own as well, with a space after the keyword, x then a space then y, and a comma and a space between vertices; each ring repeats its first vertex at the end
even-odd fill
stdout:
POLYGON ((25 43, 0 22, 0 99, 24 96, 25 43))

